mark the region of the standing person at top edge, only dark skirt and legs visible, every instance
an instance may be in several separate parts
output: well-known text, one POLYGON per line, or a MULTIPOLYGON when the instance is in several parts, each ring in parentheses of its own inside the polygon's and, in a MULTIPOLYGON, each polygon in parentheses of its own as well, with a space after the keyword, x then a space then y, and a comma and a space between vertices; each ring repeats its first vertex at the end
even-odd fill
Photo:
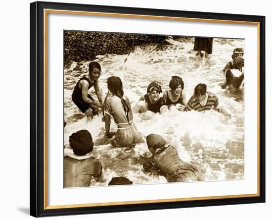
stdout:
POLYGON ((196 55, 203 57, 201 51, 205 51, 205 57, 209 58, 209 55, 213 53, 213 38, 195 37, 194 38, 194 51, 197 51, 196 55))

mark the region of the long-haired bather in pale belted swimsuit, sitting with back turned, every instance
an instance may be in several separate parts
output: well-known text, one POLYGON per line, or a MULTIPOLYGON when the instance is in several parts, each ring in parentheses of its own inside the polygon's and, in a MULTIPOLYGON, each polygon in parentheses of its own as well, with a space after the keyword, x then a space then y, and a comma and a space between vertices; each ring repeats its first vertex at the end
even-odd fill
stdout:
POLYGON ((128 147, 142 142, 141 134, 138 132, 133 121, 131 104, 128 97, 124 96, 123 84, 119 77, 112 76, 107 80, 108 90, 113 95, 105 103, 105 136, 112 137, 110 131, 110 117, 117 124, 115 138, 111 144, 115 147, 128 147))

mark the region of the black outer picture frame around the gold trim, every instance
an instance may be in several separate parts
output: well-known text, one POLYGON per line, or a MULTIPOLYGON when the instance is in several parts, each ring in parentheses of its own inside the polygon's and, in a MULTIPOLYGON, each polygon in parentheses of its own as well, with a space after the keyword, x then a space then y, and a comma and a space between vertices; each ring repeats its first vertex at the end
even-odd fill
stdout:
POLYGON ((265 202, 265 16, 162 10, 103 5, 30 3, 30 215, 34 217, 173 209, 265 202), (124 204, 98 207, 46 208, 45 199, 45 63, 44 9, 91 11, 117 14, 182 17, 224 21, 256 22, 259 25, 259 195, 192 201, 124 204))

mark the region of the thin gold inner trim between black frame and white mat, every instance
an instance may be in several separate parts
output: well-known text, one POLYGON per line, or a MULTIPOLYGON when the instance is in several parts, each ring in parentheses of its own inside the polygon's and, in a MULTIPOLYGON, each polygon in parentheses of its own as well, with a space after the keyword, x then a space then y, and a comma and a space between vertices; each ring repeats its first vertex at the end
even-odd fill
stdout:
POLYGON ((196 201, 196 200, 211 200, 211 199, 227 199, 227 198, 246 198, 260 196, 260 23, 249 21, 235 20, 217 20, 217 19, 199 19, 186 17, 167 17, 167 16, 151 16, 138 14, 119 14, 119 13, 103 13, 103 12, 88 12, 88 11, 69 11, 69 10, 52 10, 44 9, 44 210, 49 209, 66 209, 66 208, 83 208, 83 207, 98 207, 98 206, 118 206, 118 205, 134 205, 146 203, 162 203, 162 202, 181 202, 181 201, 196 201), (208 22, 208 23, 229 23, 229 24, 246 24, 257 25, 257 89, 258 89, 258 113, 257 113, 257 193, 256 194, 241 194, 241 195, 226 195, 226 196, 207 196, 207 197, 192 197, 192 198, 175 198, 175 199, 157 199, 157 200, 140 200, 140 201, 125 201, 125 202, 108 202, 108 203, 90 203, 90 204, 74 204, 74 205, 47 205, 47 15, 48 13, 57 14, 73 14, 73 15, 92 15, 92 16, 108 16, 108 17, 126 17, 126 18, 144 18, 144 19, 161 19, 161 20, 176 20, 176 21, 192 21, 192 22, 208 22))

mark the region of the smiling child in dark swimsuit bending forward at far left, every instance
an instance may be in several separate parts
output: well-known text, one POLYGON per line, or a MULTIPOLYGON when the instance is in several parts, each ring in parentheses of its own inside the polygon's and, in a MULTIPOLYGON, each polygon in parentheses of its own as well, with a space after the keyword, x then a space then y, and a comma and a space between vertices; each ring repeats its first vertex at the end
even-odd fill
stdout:
POLYGON ((83 113, 87 115, 88 120, 91 120, 94 115, 98 114, 98 108, 102 110, 104 109, 101 92, 98 86, 98 78, 100 77, 100 74, 100 64, 92 61, 89 64, 89 74, 78 81, 72 94, 72 101, 83 113), (88 94, 88 90, 92 86, 94 87, 99 103, 95 102, 91 95, 88 94))

